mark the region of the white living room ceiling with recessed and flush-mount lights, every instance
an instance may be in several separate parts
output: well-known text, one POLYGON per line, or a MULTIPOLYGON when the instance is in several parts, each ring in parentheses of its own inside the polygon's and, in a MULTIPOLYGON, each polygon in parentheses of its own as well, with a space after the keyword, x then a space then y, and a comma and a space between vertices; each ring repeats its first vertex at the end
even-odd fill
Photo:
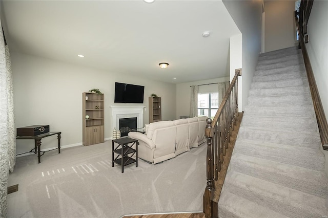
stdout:
POLYGON ((11 51, 170 83, 229 76, 239 33, 221 1, 1 1, 1 18, 11 51))

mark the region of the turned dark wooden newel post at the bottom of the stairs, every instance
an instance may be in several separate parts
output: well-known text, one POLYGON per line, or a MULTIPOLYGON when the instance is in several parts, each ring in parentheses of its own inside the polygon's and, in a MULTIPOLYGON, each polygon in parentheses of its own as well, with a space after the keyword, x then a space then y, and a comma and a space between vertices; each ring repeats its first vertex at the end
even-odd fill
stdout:
POLYGON ((205 127, 205 137, 207 140, 207 156, 206 156, 206 189, 203 195, 203 212, 206 217, 212 216, 212 200, 214 195, 214 181, 213 181, 213 149, 212 149, 212 139, 214 135, 212 127, 212 119, 208 118, 206 120, 207 125, 205 127))

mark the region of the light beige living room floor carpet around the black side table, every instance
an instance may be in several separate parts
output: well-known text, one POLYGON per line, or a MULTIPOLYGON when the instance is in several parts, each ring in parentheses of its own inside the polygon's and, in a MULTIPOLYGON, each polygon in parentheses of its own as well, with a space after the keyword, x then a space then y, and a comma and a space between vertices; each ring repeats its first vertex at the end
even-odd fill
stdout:
MULTIPOLYGON (((64 137, 64 136, 63 136, 64 137)), ((206 144, 160 164, 139 159, 121 173, 111 141, 18 157, 8 185, 8 217, 121 217, 202 211, 206 144)))

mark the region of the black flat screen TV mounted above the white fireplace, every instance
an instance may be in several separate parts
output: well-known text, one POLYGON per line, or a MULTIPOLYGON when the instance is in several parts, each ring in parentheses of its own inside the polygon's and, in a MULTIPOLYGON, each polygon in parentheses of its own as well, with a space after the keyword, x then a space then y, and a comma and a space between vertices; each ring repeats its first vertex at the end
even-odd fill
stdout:
POLYGON ((115 103, 144 103, 145 86, 115 82, 115 103))

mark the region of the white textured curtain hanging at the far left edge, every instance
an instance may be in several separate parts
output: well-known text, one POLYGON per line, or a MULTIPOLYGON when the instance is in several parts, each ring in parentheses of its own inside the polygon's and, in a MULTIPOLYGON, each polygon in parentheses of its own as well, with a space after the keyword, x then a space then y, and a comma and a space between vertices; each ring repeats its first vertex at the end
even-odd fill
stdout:
MULTIPOLYGON (((0 20, 1 24, 1 20, 0 20)), ((0 25, 1 26, 1 25, 0 25)), ((9 48, 0 28, 0 217, 7 217, 9 170, 16 161, 14 101, 9 48)))

